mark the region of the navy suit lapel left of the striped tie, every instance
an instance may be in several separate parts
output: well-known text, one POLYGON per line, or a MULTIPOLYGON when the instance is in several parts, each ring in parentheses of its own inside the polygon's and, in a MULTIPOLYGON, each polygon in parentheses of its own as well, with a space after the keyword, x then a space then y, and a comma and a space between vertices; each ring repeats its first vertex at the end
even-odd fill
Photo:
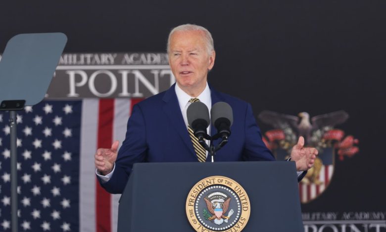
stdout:
POLYGON ((165 102, 163 111, 168 116, 170 124, 175 128, 176 132, 180 135, 181 139, 191 152, 191 154, 196 157, 193 149, 193 144, 191 138, 188 134, 188 129, 185 126, 184 118, 181 114, 180 105, 177 100, 177 95, 174 89, 173 84, 165 93, 162 100, 165 102))

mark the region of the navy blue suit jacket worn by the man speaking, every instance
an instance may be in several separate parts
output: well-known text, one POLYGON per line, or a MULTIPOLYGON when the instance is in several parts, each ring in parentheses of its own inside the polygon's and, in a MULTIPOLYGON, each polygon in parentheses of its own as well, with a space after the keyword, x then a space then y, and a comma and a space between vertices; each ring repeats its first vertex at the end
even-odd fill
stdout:
MULTIPOLYGON (((123 192, 133 163, 197 162, 174 88, 173 85, 133 107, 114 173, 108 182, 100 182, 109 193, 123 192)), ((250 104, 213 88, 210 92, 212 105, 226 102, 234 116, 229 142, 217 152, 215 161, 275 160, 261 139, 250 104)), ((212 126, 211 134, 214 133, 212 126)))

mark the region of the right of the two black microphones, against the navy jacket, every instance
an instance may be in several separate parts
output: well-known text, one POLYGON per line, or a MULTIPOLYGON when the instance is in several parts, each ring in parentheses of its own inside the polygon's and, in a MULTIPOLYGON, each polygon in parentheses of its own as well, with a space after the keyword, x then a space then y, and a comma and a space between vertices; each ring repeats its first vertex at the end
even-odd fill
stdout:
POLYGON ((231 135, 233 124, 233 111, 231 106, 225 102, 217 102, 210 110, 212 124, 217 129, 217 134, 224 140, 231 135))

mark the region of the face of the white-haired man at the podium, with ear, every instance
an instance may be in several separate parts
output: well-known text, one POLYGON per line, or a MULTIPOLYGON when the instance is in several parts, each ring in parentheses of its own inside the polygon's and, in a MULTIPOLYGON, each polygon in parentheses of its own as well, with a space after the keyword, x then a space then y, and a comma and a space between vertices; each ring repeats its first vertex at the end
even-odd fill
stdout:
POLYGON ((215 53, 209 55, 205 45, 201 31, 175 32, 170 38, 169 64, 177 84, 188 94, 204 90, 214 65, 215 53))

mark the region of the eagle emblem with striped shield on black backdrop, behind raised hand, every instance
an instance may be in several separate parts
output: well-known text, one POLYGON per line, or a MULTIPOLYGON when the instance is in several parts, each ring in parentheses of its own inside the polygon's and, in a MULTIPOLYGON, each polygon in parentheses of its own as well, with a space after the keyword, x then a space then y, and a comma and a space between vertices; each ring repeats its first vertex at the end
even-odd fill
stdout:
POLYGON ((305 146, 315 147, 319 155, 314 166, 299 183, 299 195, 302 203, 307 203, 322 194, 328 187, 334 174, 335 156, 339 161, 352 157, 359 152, 358 139, 345 135, 335 126, 348 119, 345 111, 336 111, 310 118, 307 112, 298 116, 272 111, 263 111, 258 118, 273 127, 263 135, 263 142, 276 156, 283 160, 290 156, 292 147, 299 136, 303 136, 305 146))

